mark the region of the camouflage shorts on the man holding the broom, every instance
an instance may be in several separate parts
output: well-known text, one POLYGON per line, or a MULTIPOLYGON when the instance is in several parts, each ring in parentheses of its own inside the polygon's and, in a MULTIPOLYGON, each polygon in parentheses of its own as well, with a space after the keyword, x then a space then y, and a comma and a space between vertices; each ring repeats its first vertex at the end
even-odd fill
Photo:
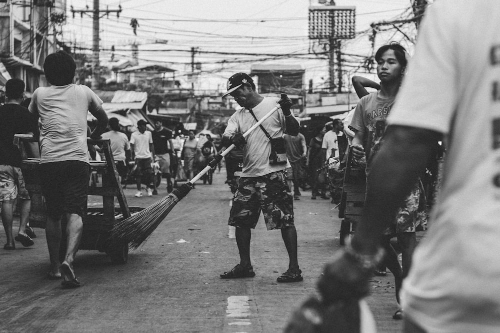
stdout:
POLYGON ((228 224, 233 227, 255 228, 260 211, 267 230, 292 227, 293 198, 283 171, 260 177, 240 177, 232 199, 228 224))

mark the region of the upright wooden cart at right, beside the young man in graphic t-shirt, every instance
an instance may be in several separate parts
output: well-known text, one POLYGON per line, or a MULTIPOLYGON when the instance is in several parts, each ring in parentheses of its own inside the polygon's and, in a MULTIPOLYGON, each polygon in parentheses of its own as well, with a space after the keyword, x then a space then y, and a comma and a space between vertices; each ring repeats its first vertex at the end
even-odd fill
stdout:
POLYGON ((340 245, 344 244, 345 237, 354 233, 356 223, 361 217, 365 195, 365 168, 352 161, 352 147, 350 147, 347 151, 342 196, 338 208, 338 217, 342 219, 340 223, 340 245))

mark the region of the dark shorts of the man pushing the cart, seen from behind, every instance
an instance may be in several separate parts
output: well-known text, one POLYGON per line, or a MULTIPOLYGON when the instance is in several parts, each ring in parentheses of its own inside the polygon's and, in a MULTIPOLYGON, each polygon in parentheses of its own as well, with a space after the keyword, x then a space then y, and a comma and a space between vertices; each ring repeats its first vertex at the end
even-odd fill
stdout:
POLYGON ((81 161, 42 163, 39 171, 47 214, 55 220, 63 213, 83 216, 90 178, 88 164, 81 161))

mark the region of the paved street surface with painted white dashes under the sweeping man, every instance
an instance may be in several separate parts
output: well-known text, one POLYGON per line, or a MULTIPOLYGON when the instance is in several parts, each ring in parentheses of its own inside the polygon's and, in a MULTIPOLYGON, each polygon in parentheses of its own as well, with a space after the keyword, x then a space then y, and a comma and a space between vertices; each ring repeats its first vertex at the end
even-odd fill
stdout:
MULTIPOLYGON (((33 247, 0 250, 0 332, 281 332, 291 312, 315 293, 324 263, 339 248, 337 211, 328 200, 310 200, 308 192, 295 201, 303 282, 276 283, 287 268, 286 250, 279 231, 266 231, 263 220, 252 234, 256 277, 221 280, 219 274, 238 262, 224 174, 215 173, 213 185, 197 184, 148 242, 129 253, 127 264, 79 251, 74 266, 81 288, 62 290, 45 278, 41 229, 33 247)), ((166 189, 162 184, 152 198, 134 193, 133 185, 125 190, 129 205, 146 207, 166 189)), ((391 319, 397 309, 392 276, 374 277, 371 285, 367 302, 378 332, 399 332, 401 323, 391 319)))

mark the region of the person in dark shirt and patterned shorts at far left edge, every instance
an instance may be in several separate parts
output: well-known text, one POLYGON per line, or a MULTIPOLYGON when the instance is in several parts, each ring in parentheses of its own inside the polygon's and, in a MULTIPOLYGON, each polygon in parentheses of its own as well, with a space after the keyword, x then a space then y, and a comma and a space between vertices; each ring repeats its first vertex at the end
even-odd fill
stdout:
POLYGON ((38 122, 20 103, 24 94, 24 82, 13 78, 5 82, 5 104, 0 106, 0 202, 1 220, 7 238, 4 250, 14 250, 14 240, 22 246, 34 244, 26 234, 30 198, 20 169, 21 155, 14 146, 14 134, 32 132, 38 134, 38 122), (15 200, 19 201, 19 229, 12 237, 12 219, 15 200))

